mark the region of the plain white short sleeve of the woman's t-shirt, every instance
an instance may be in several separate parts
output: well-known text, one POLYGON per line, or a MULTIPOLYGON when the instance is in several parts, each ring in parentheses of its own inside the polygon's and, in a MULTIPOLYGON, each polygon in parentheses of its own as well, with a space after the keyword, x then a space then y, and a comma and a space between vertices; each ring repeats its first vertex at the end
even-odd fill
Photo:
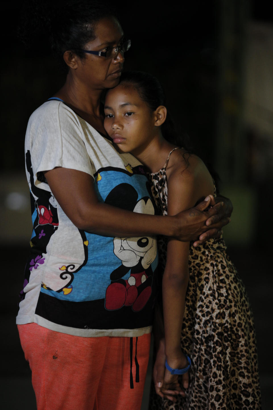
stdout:
POLYGON ((37 180, 39 172, 57 166, 93 176, 95 168, 82 136, 77 115, 59 101, 47 102, 32 114, 27 126, 26 150, 30 151, 36 186, 41 183, 37 180))

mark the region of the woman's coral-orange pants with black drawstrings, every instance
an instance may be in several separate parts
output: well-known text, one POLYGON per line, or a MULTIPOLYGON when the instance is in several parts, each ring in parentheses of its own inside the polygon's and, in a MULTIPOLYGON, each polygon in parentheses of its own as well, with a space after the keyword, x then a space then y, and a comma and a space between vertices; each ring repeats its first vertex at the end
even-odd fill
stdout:
POLYGON ((78 337, 36 323, 18 330, 38 410, 140 409, 150 334, 78 337))

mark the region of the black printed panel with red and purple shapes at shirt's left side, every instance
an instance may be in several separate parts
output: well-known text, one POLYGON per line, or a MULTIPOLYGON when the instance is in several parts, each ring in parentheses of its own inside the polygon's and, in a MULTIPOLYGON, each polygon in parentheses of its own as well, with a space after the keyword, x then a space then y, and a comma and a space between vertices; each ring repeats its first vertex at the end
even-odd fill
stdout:
MULTIPOLYGON (((24 287, 29 282, 30 273, 41 266, 45 258, 46 247, 50 237, 57 230, 59 221, 57 215, 56 201, 52 194, 44 189, 37 188, 34 185, 34 175, 31 164, 30 152, 26 153, 26 167, 29 173, 30 204, 32 211, 33 231, 30 241, 31 252, 25 267, 24 287)), ((46 182, 41 174, 43 182, 46 182)), ((21 298, 25 298, 23 290, 20 292, 21 298)))

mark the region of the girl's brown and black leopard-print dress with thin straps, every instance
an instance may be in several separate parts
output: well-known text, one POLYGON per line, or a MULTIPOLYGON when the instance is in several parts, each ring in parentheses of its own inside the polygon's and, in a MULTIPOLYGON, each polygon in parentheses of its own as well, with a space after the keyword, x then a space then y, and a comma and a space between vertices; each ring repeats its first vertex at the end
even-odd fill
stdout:
MULTIPOLYGON (((150 174, 152 194, 163 215, 167 214, 168 161, 169 157, 160 171, 150 174)), ((163 272, 166 238, 159 238, 158 246, 163 272)), ((189 271, 181 348, 192 360, 190 386, 185 398, 178 396, 172 403, 156 395, 152 381, 149 409, 260 409, 253 314, 223 239, 209 239, 196 248, 191 244, 189 271)))

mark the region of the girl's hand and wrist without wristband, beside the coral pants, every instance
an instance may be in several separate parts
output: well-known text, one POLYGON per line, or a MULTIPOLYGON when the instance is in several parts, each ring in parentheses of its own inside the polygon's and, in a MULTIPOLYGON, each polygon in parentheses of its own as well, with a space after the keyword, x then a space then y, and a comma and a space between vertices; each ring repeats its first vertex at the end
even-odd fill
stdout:
POLYGON ((165 368, 165 360, 165 342, 163 339, 163 342, 160 343, 160 346, 156 353, 156 362, 153 367, 153 381, 156 389, 156 394, 158 394, 158 396, 162 397, 162 399, 165 398, 176 402, 175 396, 177 394, 185 396, 185 392, 183 392, 178 382, 172 383, 170 388, 167 388, 165 386, 165 372, 167 371, 167 369, 165 368))

